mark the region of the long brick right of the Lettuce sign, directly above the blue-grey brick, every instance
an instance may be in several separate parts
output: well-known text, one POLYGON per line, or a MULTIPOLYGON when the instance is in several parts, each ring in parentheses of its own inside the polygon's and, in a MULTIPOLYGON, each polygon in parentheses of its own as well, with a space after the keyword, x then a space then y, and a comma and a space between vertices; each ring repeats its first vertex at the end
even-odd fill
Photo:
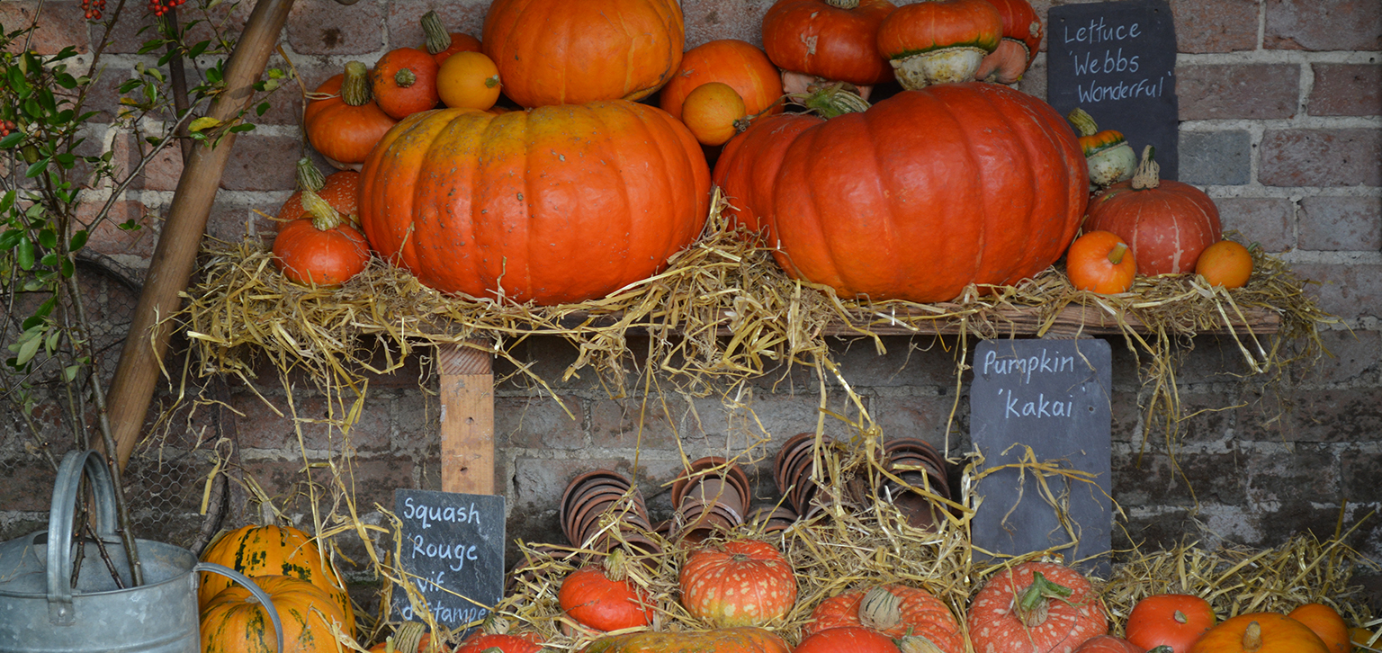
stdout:
POLYGON ((1212 64, 1176 66, 1182 120, 1295 117, 1300 66, 1212 64))

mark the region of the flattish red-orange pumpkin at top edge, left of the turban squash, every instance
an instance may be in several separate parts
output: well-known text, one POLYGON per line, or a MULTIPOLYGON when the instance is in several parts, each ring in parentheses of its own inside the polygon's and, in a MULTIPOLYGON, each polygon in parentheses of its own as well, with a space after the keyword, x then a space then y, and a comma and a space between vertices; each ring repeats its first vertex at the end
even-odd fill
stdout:
POLYGON ((893 66, 878 50, 878 28, 897 7, 860 0, 839 8, 825 0, 777 0, 763 15, 763 50, 778 68, 851 84, 880 84, 893 66))

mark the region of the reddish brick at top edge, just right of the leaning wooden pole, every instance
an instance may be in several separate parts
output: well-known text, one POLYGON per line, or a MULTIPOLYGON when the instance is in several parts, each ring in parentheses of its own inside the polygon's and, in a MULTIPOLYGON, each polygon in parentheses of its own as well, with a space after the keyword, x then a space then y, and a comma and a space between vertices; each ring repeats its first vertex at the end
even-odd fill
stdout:
POLYGON ((379 52, 384 11, 384 3, 341 7, 336 0, 301 0, 287 15, 287 43, 297 54, 379 52))

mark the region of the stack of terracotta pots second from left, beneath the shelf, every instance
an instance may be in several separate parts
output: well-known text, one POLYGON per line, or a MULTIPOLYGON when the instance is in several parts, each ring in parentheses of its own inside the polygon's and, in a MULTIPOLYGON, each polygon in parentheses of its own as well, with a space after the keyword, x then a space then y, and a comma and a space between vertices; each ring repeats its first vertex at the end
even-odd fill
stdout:
POLYGON ((737 462, 717 456, 697 460, 672 482, 676 512, 669 533, 673 540, 698 544, 728 532, 744 523, 749 497, 749 476, 737 462))

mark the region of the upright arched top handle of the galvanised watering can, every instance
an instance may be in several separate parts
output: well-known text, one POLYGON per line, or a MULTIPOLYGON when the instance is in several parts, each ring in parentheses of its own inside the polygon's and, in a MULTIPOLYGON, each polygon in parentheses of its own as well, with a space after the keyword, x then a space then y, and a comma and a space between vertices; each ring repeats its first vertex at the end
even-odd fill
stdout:
POLYGON ((95 534, 115 540, 115 483, 111 469, 100 451, 68 451, 58 465, 58 479, 53 487, 53 507, 48 511, 48 618, 57 625, 72 625, 72 514, 82 500, 82 475, 91 479, 95 494, 95 534))

